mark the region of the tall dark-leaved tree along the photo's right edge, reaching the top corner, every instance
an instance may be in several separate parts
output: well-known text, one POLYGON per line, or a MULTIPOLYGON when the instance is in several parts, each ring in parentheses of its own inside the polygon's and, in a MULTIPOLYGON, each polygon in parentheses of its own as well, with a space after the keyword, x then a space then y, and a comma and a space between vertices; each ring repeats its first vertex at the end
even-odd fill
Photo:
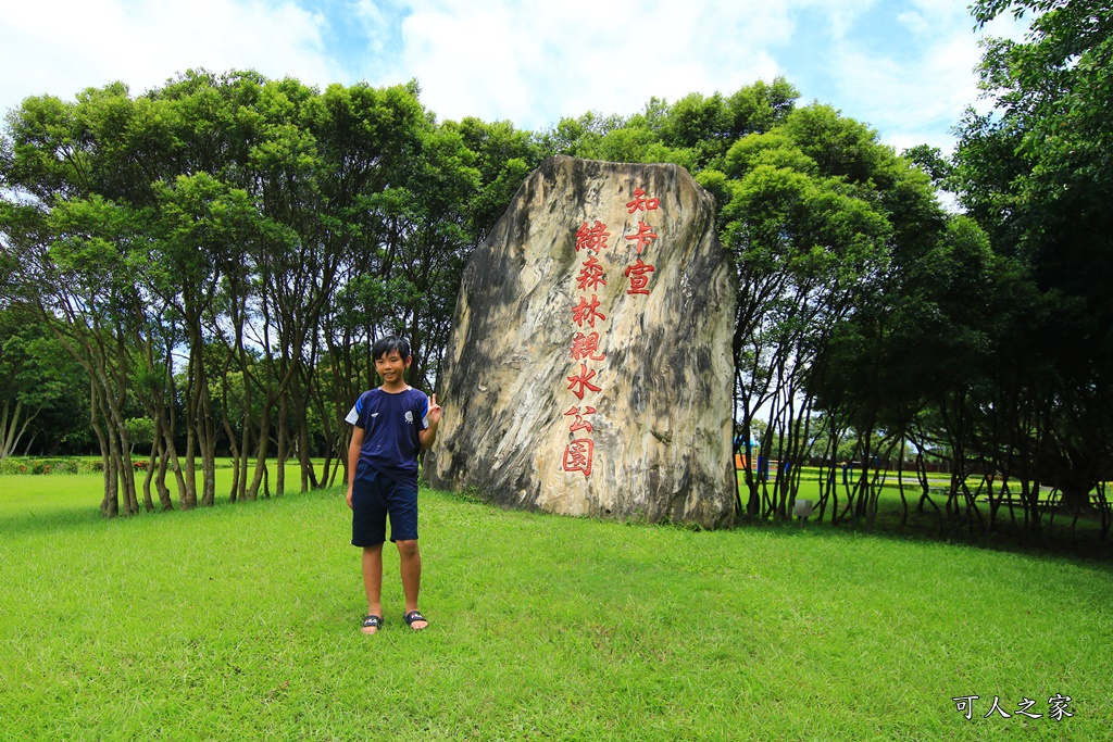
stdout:
MULTIPOLYGON (((1017 384, 1043 398, 1023 429, 1027 469, 1084 505, 1113 474, 1113 9, 1096 0, 981 0, 978 23, 1031 13, 1023 41, 992 39, 981 67, 995 108, 959 123, 954 187, 1015 259, 1040 310, 1023 319, 1028 343, 1017 384), (1038 319, 1038 321, 1036 321, 1038 319)), ((1013 435, 1017 435, 1013 433, 1013 435)))

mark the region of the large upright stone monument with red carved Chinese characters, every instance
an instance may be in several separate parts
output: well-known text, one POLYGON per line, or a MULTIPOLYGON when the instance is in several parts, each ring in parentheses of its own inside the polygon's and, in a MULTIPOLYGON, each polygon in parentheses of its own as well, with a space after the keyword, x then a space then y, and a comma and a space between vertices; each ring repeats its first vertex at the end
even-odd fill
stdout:
POLYGON ((464 270, 426 482, 509 507, 727 522, 733 276, 683 168, 545 160, 464 270))

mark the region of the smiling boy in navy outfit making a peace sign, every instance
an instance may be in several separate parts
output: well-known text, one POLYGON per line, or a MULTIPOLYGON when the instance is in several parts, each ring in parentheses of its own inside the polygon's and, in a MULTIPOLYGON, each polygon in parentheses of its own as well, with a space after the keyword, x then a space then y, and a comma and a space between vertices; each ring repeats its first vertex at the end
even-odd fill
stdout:
POLYGON ((404 620, 414 631, 429 625, 417 610, 421 554, 417 551, 417 454, 436 439, 441 407, 403 378, 413 358, 410 343, 396 336, 380 338, 371 348, 383 385, 359 395, 344 419, 351 423, 347 504, 352 508, 352 545, 363 548, 363 585, 367 616, 363 632, 383 625, 383 543, 386 517, 391 541, 398 547, 404 620))

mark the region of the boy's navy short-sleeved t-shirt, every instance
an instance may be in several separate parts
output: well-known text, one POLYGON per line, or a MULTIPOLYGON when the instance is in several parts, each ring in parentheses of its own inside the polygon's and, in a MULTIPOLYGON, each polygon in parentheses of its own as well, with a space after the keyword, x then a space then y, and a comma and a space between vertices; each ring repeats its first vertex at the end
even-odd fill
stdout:
MULTIPOLYGON (((364 392, 344 419, 364 431, 359 461, 398 484, 417 488, 418 431, 429 427, 429 397, 408 387, 391 394, 381 388, 364 392)), ((354 473, 353 473, 354 475, 354 473)))

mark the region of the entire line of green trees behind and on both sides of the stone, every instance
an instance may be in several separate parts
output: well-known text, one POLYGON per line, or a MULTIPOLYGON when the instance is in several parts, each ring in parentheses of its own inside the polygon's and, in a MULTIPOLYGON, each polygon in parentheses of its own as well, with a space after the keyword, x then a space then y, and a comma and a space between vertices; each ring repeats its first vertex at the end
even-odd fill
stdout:
MULTIPOLYGON (((270 453, 275 489, 288 458, 304 489, 343 467, 337 421, 373 384, 370 338, 407 335, 412 383, 435 378, 460 270, 544 157, 676 162, 715 194, 739 273, 740 453, 788 464, 747 471, 740 515, 787 517, 818 458, 820 512, 869 521, 886 465, 913 462, 915 504, 940 523, 992 528, 1007 505, 1040 531, 1093 496, 1105 533, 1113 19, 1093 0, 973 11, 1036 20, 987 43, 996 107, 958 122, 953 157, 898 156, 779 78, 541 132, 437 122, 415 85, 322 92, 253 72, 30 98, 0 140, 0 311, 83 369, 106 514, 139 507, 124 475, 137 405, 155 427, 147 506, 170 506, 168 478, 183 506, 214 502, 218 443, 233 499, 268 486, 270 453), (942 496, 929 456, 948 461, 942 496)), ((35 398, 7 394, 26 423, 35 398)))

